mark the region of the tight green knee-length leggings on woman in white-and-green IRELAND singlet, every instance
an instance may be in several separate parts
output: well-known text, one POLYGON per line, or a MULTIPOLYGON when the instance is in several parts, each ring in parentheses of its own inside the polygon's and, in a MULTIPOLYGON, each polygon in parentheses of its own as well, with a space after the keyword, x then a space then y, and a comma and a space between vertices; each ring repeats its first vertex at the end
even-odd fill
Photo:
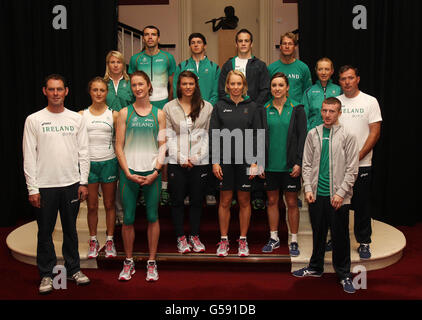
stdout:
MULTIPOLYGON (((136 172, 129 169, 130 173, 138 174, 140 176, 147 176, 153 171, 136 172)), ((145 198, 145 207, 148 222, 155 222, 158 220, 158 205, 160 203, 161 193, 161 174, 149 186, 140 186, 139 184, 129 180, 124 172, 120 170, 119 192, 122 199, 123 206, 123 224, 126 226, 133 225, 135 222, 136 201, 138 200, 139 190, 145 198)))

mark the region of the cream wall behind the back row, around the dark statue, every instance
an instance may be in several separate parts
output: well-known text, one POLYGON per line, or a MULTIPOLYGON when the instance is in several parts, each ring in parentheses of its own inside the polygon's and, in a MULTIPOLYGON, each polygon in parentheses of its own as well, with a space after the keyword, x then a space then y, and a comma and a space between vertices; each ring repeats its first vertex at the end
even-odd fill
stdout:
MULTIPOLYGON (((180 47, 181 23, 179 22, 179 6, 181 1, 170 0, 169 5, 148 6, 119 6, 119 21, 137 29, 144 26, 156 25, 161 31, 161 43, 176 44, 175 50, 169 50, 176 62, 186 59, 182 57, 180 47)), ((253 53, 259 57, 259 0, 190 0, 192 9, 192 32, 201 32, 207 38, 207 55, 213 60, 218 60, 218 38, 212 32, 211 23, 205 21, 224 16, 224 8, 231 5, 239 18, 238 29, 247 28, 254 35, 253 53)), ((275 45, 280 43, 280 35, 298 28, 298 7, 296 3, 283 3, 283 0, 272 0, 272 43, 271 62, 280 58, 280 51, 275 45)), ((271 15, 270 15, 271 16, 271 15)), ((233 39, 233 46, 235 45, 233 39)))

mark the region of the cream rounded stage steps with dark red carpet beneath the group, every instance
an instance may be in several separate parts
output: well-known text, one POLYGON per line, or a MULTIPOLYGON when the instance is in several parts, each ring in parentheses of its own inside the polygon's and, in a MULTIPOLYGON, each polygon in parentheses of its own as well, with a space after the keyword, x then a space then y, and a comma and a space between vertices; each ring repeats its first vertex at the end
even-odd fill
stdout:
MULTIPOLYGON (((216 243, 219 240, 218 218, 216 207, 204 208, 203 222, 201 227, 201 240, 206 245, 205 253, 179 254, 176 250, 176 240, 171 225, 171 217, 169 208, 160 208, 160 243, 158 248, 157 260, 161 262, 199 262, 199 263, 291 263, 291 270, 297 270, 306 266, 312 253, 312 231, 309 220, 309 213, 305 205, 300 210, 300 228, 299 228, 299 249, 300 256, 290 257, 288 254, 288 230, 286 222, 280 225, 280 237, 282 245, 272 254, 264 254, 261 252, 262 246, 268 240, 268 223, 265 210, 252 211, 251 227, 248 234, 248 242, 251 254, 249 257, 237 256, 236 239, 238 232, 238 209, 232 208, 232 217, 230 224, 230 254, 225 258, 219 258, 215 255, 216 243)), ((79 253, 81 257, 81 268, 101 268, 107 263, 116 263, 116 268, 121 267, 121 261, 125 258, 123 245, 121 241, 121 228, 116 226, 115 243, 118 256, 113 259, 105 259, 103 250, 97 259, 87 259, 89 232, 87 226, 87 207, 86 203, 81 204, 79 216, 77 219, 77 228, 79 235, 79 253), (117 266, 118 265, 118 266, 117 266)), ((186 221, 188 217, 186 216, 186 221)), ((356 265, 363 265, 367 271, 385 268, 396 263, 402 256, 403 249, 406 246, 406 239, 402 232, 396 228, 382 223, 380 221, 372 221, 373 236, 371 244, 372 258, 370 260, 360 260, 356 251, 358 244, 353 235, 353 212, 350 214, 350 238, 351 238, 351 260, 352 268, 356 265)), ((143 208, 138 208, 137 218, 135 222, 136 239, 134 246, 134 257, 136 260, 147 260, 148 250, 146 242, 146 220, 143 208)), ((186 224, 185 230, 188 230, 186 224)), ((36 221, 25 224, 9 234, 7 237, 7 245, 11 254, 17 260, 36 265, 36 246, 37 246, 36 221)), ((98 223, 98 240, 100 246, 105 243, 105 211, 102 207, 100 199, 99 223, 98 223)), ((63 264, 62 247, 62 230, 60 218, 53 234, 53 242, 56 248, 58 264, 63 264)), ((331 252, 327 252, 325 256, 325 272, 334 272, 331 264, 331 252)))

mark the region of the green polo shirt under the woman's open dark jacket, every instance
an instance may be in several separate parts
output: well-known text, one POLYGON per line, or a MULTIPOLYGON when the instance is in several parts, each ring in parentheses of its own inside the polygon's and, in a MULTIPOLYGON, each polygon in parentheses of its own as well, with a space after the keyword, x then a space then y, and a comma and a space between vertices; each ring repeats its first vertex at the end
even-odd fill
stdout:
POLYGON ((289 98, 287 98, 281 114, 274 107, 272 100, 265 105, 270 140, 266 171, 290 172, 292 170, 287 166, 287 134, 293 108, 293 103, 289 98))

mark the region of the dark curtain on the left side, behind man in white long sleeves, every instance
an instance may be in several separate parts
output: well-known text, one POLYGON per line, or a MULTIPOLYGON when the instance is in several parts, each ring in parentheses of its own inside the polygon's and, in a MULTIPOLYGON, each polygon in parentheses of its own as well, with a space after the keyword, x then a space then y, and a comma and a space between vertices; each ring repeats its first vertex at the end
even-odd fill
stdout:
MULTIPOLYGON (((117 47, 117 0, 2 0, 0 226, 31 217, 23 175, 22 134, 26 117, 46 106, 43 79, 59 73, 68 80, 65 106, 88 106, 88 81, 104 75, 105 56, 117 47), (56 30, 53 13, 66 9, 67 29, 56 30)), ((63 25, 63 19, 61 21, 63 25)))

